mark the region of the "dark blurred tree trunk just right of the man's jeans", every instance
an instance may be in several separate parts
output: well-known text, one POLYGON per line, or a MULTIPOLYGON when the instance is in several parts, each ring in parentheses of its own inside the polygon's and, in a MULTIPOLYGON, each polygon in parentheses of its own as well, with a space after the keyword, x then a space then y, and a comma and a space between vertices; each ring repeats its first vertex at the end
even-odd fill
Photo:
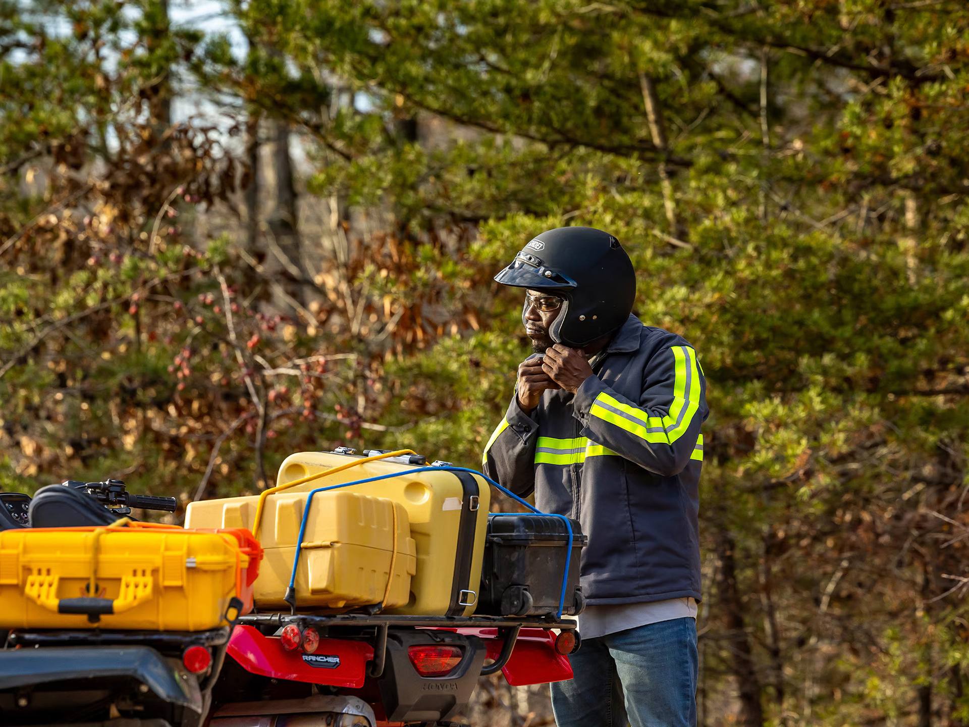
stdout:
POLYGON ((764 708, 761 705, 761 682, 754 669, 750 640, 743 620, 743 604, 736 587, 735 543, 729 533, 721 532, 717 550, 720 558, 720 578, 717 582, 719 603, 727 627, 727 644, 733 654, 734 674, 740 699, 738 723, 744 727, 763 727, 764 708))

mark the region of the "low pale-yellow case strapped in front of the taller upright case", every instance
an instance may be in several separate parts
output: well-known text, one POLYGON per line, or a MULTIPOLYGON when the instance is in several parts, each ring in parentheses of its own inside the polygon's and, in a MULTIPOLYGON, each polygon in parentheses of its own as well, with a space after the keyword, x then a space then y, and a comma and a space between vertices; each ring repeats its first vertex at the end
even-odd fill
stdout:
MULTIPOLYGON (((289 609, 283 596, 306 498, 305 491, 289 490, 266 497, 259 534, 265 560, 253 586, 257 608, 289 609)), ((255 529, 258 501, 230 497, 190 503, 185 526, 255 529)), ((415 543, 407 511, 391 499, 341 490, 318 493, 301 550, 297 608, 344 609, 381 602, 390 607, 406 604, 410 597, 415 543)))

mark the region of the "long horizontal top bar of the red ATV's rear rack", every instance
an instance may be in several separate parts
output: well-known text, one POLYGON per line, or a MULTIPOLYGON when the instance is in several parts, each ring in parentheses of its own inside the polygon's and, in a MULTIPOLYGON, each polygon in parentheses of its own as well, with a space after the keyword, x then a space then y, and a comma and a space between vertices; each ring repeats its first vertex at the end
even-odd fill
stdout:
POLYGON ((578 623, 573 620, 555 618, 554 616, 391 616, 376 614, 336 614, 332 616, 317 616, 312 614, 249 614, 239 616, 236 623, 246 626, 284 626, 296 623, 302 626, 316 628, 328 626, 412 626, 430 628, 557 628, 562 631, 573 631, 578 623))

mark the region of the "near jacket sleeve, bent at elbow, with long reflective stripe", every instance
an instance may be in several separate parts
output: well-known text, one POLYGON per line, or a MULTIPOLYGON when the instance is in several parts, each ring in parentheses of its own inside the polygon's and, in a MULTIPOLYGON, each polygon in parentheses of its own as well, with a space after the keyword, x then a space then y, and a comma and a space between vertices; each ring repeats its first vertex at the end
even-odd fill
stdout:
POLYGON ((574 416, 590 441, 650 472, 672 477, 691 459, 703 461, 705 387, 696 351, 676 345, 661 350, 646 365, 639 401, 590 376, 578 388, 574 416))

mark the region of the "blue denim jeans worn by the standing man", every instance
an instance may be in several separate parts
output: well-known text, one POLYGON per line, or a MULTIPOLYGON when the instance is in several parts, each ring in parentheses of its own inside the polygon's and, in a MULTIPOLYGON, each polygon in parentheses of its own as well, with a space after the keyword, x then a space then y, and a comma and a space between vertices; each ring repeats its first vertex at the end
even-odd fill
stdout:
POLYGON ((558 727, 696 727, 695 619, 588 639, 569 661, 575 677, 551 684, 558 727))

